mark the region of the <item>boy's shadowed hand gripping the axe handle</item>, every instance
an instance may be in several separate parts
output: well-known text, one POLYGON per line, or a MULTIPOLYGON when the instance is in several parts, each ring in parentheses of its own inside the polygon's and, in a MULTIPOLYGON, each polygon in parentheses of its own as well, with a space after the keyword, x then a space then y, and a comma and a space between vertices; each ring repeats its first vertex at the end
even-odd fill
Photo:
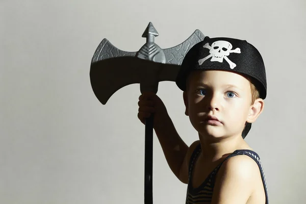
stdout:
POLYGON ((145 92, 139 96, 138 118, 144 124, 145 118, 154 114, 154 128, 162 127, 169 117, 163 101, 153 92, 145 92))

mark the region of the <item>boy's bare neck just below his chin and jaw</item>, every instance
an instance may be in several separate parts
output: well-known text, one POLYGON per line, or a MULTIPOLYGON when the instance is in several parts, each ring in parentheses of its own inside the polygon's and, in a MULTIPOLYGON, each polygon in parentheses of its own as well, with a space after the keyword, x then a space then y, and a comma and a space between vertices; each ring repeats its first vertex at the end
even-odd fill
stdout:
POLYGON ((237 149, 251 149, 241 135, 226 138, 209 138, 199 134, 203 157, 215 161, 237 149))

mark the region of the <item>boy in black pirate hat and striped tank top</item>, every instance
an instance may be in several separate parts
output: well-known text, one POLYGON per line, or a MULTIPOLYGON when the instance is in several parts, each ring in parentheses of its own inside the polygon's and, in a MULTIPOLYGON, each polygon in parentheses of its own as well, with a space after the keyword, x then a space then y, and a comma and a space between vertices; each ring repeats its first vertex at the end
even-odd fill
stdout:
POLYGON ((198 141, 184 143, 155 93, 139 97, 138 118, 144 123, 154 113, 169 167, 188 184, 186 203, 268 203, 260 158, 244 141, 266 97, 258 50, 245 40, 206 37, 185 56, 176 85, 198 141))

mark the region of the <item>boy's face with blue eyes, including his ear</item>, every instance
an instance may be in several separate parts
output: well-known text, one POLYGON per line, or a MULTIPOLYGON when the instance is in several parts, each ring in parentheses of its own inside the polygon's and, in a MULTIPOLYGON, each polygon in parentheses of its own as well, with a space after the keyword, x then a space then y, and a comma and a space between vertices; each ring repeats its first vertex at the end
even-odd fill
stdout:
POLYGON ((193 71, 184 92, 186 115, 202 136, 241 136, 245 122, 256 120, 263 108, 263 103, 251 106, 251 97, 250 82, 240 74, 193 71), (208 116, 217 117, 219 122, 208 122, 208 116))

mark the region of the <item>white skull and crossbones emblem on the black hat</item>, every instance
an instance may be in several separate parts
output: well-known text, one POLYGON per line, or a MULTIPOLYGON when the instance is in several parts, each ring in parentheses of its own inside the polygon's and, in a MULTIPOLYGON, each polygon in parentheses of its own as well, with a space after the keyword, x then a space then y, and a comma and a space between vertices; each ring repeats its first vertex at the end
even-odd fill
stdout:
POLYGON ((198 61, 199 65, 201 65, 209 58, 212 58, 211 62, 223 62, 224 58, 226 62, 230 65, 231 69, 234 69, 236 67, 236 64, 230 59, 228 59, 227 56, 229 56, 231 53, 241 53, 240 48, 232 49, 233 45, 230 42, 224 40, 215 41, 212 43, 212 46, 210 46, 209 43, 206 43, 205 45, 203 45, 203 47, 210 49, 210 55, 203 59, 200 59, 198 61))

